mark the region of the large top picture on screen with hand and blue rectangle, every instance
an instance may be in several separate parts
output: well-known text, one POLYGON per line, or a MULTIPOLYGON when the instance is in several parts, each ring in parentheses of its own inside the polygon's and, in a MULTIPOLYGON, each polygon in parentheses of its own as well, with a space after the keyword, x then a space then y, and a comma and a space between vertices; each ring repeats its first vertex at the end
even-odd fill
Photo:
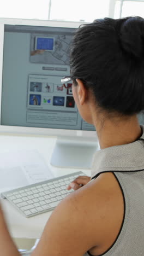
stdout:
POLYGON ((48 65, 69 65, 72 38, 73 34, 68 32, 32 33, 30 61, 48 65))

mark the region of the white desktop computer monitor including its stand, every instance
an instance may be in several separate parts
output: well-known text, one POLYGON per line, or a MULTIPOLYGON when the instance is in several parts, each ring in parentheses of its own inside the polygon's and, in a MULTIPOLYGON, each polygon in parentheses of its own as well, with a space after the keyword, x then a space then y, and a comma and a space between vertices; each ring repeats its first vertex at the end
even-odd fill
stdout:
POLYGON ((1 132, 54 135, 51 164, 90 168, 98 149, 61 79, 70 74, 70 42, 80 22, 0 19, 1 132))

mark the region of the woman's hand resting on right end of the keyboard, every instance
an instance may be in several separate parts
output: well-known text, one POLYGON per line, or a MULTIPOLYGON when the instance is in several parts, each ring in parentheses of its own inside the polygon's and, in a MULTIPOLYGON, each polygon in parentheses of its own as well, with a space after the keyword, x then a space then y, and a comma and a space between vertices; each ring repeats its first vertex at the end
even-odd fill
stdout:
POLYGON ((74 189, 77 190, 79 188, 81 188, 82 186, 86 185, 89 181, 91 181, 91 177, 88 176, 79 176, 76 179, 74 179, 73 182, 71 182, 68 185, 68 190, 70 189, 74 189))

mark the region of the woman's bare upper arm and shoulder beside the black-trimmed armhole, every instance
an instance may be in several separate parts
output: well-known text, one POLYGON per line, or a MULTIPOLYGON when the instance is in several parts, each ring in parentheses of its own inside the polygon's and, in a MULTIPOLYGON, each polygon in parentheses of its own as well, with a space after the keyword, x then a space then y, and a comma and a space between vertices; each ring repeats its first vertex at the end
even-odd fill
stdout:
POLYGON ((105 252, 123 220, 123 196, 113 173, 67 196, 51 214, 32 256, 82 256, 105 252))

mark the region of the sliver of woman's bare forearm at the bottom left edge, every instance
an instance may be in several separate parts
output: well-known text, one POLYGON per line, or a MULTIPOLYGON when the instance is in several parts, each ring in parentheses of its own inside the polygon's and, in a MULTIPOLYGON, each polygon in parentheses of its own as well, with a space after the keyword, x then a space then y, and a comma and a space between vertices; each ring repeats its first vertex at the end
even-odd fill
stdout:
POLYGON ((17 248, 10 237, 7 225, 5 223, 2 208, 0 206, 0 251, 2 256, 20 256, 17 248))

